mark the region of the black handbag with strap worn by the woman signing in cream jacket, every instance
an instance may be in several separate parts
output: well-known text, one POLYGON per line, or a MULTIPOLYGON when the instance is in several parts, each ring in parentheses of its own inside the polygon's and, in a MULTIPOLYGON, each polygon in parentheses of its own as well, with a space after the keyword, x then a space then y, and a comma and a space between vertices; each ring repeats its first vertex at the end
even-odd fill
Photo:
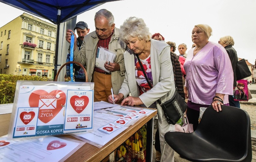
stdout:
MULTIPOLYGON (((135 55, 139 61, 139 65, 142 69, 145 79, 148 82, 149 87, 152 88, 151 83, 148 81, 148 77, 145 73, 145 70, 142 66, 142 63, 139 59, 138 54, 135 54, 135 55)), ((176 88, 176 84, 175 84, 175 88, 176 88)), ((181 95, 177 91, 178 91, 178 89, 176 88, 174 96, 170 100, 168 100, 164 103, 161 103, 160 100, 157 100, 157 102, 163 109, 166 121, 172 125, 175 125, 178 122, 178 120, 182 117, 183 113, 187 109, 187 103, 185 102, 185 99, 182 98, 181 95)))

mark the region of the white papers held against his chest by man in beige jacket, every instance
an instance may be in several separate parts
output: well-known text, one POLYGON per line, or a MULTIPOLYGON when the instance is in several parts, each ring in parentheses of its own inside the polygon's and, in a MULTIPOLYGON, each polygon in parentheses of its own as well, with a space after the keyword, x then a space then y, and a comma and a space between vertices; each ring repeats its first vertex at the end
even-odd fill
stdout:
POLYGON ((114 54, 113 52, 109 51, 106 48, 98 47, 95 66, 110 74, 111 72, 104 67, 104 64, 106 62, 113 63, 115 61, 115 58, 116 54, 114 54))

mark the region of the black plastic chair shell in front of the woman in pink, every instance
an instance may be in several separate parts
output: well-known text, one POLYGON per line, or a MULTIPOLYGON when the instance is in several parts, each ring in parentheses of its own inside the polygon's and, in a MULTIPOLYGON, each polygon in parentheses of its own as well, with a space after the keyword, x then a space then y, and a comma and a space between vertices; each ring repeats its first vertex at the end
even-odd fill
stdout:
POLYGON ((240 108, 209 106, 192 133, 167 132, 166 143, 189 161, 251 162, 251 122, 240 108))

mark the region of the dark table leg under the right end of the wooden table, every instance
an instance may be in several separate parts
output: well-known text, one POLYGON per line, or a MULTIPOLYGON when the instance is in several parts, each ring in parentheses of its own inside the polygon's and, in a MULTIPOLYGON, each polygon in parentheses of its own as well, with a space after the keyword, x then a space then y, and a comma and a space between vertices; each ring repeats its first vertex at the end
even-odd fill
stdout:
POLYGON ((151 162, 153 157, 153 129, 154 117, 147 123, 146 162, 151 162))

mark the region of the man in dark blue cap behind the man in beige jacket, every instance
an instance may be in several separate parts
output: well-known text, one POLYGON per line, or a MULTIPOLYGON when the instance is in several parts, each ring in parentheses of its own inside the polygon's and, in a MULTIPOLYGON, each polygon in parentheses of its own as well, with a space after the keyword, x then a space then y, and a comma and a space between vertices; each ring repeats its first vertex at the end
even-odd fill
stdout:
MULTIPOLYGON (((84 41, 84 36, 86 36, 90 29, 88 29, 88 25, 86 22, 78 22, 76 23, 75 25, 75 28, 74 30, 76 30, 76 33, 78 35, 78 38, 77 38, 77 47, 78 49, 80 50, 81 48, 81 45, 84 41)), ((69 45, 69 51, 70 51, 70 45, 69 45)), ((68 54, 67 56, 67 62, 70 61, 70 54, 68 54)), ((76 64, 73 64, 73 68, 74 68, 74 74, 75 74, 75 82, 85 82, 85 75, 84 75, 84 70, 76 65, 76 64)), ((84 67, 85 68, 85 67, 84 67)), ((71 78, 70 78, 70 65, 67 65, 66 66, 66 75, 65 75, 65 81, 70 81, 71 78)))

